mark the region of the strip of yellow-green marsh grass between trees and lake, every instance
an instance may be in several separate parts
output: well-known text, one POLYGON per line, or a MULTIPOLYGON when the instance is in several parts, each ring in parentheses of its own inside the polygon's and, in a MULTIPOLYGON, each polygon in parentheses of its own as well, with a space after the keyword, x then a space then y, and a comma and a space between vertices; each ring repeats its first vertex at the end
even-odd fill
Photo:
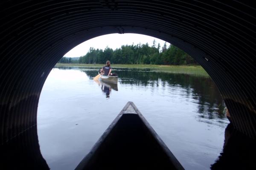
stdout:
MULTIPOLYGON (((74 68, 102 68, 104 64, 56 64, 56 68, 61 67, 74 67, 74 68)), ((111 64, 113 70, 115 68, 138 68, 138 69, 150 69, 156 72, 169 72, 177 74, 191 74, 195 76, 209 77, 207 72, 200 65, 142 65, 142 64, 111 64)))

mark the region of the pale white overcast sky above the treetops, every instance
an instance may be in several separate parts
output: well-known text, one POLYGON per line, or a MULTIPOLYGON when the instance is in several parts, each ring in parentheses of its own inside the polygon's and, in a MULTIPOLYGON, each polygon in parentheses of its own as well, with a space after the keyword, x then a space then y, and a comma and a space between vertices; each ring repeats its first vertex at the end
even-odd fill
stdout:
MULTIPOLYGON (((156 40, 156 44, 160 43, 161 47, 163 46, 163 40, 158 38, 150 37, 142 34, 107 34, 99 37, 95 37, 93 39, 87 40, 75 48, 67 52, 64 57, 80 57, 85 55, 90 47, 99 48, 104 50, 106 46, 112 48, 113 50, 116 48, 120 48, 121 45, 137 45, 139 43, 145 44, 148 42, 149 46, 153 44, 153 41, 156 40)), ((166 43, 167 47, 170 45, 166 43)))

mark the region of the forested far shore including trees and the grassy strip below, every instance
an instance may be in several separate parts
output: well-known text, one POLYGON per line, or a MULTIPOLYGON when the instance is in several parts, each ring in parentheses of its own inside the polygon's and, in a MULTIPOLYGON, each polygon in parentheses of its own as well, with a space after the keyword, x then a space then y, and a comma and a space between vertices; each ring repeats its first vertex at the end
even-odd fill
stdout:
POLYGON ((122 45, 113 50, 108 46, 102 49, 93 47, 86 55, 76 58, 62 57, 56 67, 102 68, 107 60, 115 68, 147 68, 151 71, 170 72, 177 74, 192 74, 208 77, 204 69, 181 49, 174 45, 167 48, 166 42, 160 49, 160 44, 150 47, 148 43, 137 45, 122 45))

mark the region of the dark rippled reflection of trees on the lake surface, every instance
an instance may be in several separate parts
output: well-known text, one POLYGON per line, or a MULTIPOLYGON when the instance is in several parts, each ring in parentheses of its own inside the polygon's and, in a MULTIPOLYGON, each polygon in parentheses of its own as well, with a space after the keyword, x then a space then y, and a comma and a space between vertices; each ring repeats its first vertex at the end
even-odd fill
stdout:
MULTIPOLYGON (((87 76, 95 77, 95 70, 84 71, 87 76)), ((120 84, 158 87, 160 84, 183 89, 184 94, 197 100, 200 118, 223 119, 225 107, 218 88, 209 77, 197 77, 188 74, 153 72, 150 69, 117 69, 120 84)))

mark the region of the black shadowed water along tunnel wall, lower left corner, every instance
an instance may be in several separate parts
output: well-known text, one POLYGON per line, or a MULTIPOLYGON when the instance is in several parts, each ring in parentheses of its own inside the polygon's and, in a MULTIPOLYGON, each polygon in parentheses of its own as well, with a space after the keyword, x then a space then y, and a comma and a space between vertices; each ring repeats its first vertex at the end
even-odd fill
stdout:
POLYGON ((34 125, 0 146, 1 170, 49 170, 38 143, 34 125))

